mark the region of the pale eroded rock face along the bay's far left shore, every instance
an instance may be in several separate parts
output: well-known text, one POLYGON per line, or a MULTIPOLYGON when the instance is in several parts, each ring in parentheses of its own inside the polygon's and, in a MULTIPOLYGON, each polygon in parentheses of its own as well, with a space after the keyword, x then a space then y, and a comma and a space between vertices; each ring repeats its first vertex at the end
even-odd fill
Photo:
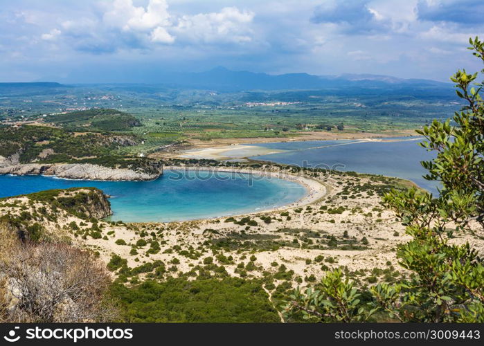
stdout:
POLYGON ((0 174, 43 174, 66 179, 104 180, 104 181, 150 181, 159 178, 162 167, 154 167, 150 172, 135 172, 128 168, 111 168, 90 163, 42 164, 26 163, 2 165, 0 174))

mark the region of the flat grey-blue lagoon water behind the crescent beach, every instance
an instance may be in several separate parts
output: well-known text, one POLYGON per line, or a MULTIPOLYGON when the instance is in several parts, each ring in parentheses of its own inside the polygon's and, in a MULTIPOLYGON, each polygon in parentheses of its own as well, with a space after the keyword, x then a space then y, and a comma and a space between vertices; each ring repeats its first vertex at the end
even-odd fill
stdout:
POLYGON ((436 194, 438 193, 438 183, 422 178, 427 171, 420 165, 420 161, 430 160, 433 158, 433 154, 418 145, 421 141, 421 139, 395 142, 311 140, 259 143, 254 145, 281 149, 285 152, 251 158, 307 167, 333 167, 343 171, 397 176, 409 179, 436 194))

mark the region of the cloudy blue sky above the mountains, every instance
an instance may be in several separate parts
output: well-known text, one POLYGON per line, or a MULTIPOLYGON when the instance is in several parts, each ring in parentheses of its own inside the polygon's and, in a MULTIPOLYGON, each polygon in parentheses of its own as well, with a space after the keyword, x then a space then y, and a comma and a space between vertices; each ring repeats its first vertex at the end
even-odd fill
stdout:
POLYGON ((480 71, 483 0, 0 0, 0 82, 143 82, 163 71, 480 71))

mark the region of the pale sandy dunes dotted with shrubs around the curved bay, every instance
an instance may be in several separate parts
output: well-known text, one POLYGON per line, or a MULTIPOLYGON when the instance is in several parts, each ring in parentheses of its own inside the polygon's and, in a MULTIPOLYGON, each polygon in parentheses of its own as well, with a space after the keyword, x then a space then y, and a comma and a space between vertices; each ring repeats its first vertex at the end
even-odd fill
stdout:
MULTIPOLYGON (((234 171, 230 167, 217 169, 234 171)), ((239 172, 257 173, 253 170, 239 172)), ((235 277, 240 277, 237 265, 246 265, 251 255, 256 257, 254 263, 257 268, 247 271, 249 278, 262 277, 264 273, 276 273, 279 266, 284 264, 288 271, 294 271, 291 281, 293 286, 309 284, 304 280, 309 275, 314 275, 316 280, 320 280, 329 269, 341 266, 348 270, 348 273, 352 273, 353 280, 359 280, 363 284, 368 284, 368 277, 375 276, 377 282, 384 282, 386 278, 383 270, 392 271, 398 276, 406 275, 404 268, 398 265, 395 249, 399 244, 408 242, 411 237, 405 234, 405 226, 395 219, 395 213, 382 206, 382 198, 376 193, 379 186, 388 181, 375 176, 330 176, 322 172, 312 176, 280 176, 278 172, 270 171, 261 171, 260 174, 301 183, 307 188, 307 194, 289 206, 243 215, 251 221, 256 221, 256 225, 253 226, 233 222, 234 219, 240 221, 242 216, 232 219, 216 217, 195 221, 138 224, 110 224, 98 221, 103 238, 87 236, 82 239, 73 235, 69 224, 75 221, 79 226, 82 224, 80 228, 83 231, 90 232, 92 222, 79 219, 59 208, 55 210, 55 221, 44 219, 39 222, 52 237, 66 237, 80 248, 89 248, 98 253, 100 259, 106 263, 111 260, 113 254, 127 260, 127 265, 131 268, 156 260, 163 261, 168 268, 177 259, 176 271, 170 272, 170 275, 175 276, 191 271, 196 266, 204 266, 204 258, 216 257, 218 253, 233 257, 230 263, 219 262, 216 258, 214 262, 223 265, 227 273, 235 277), (339 208, 341 211, 334 212, 339 208), (271 221, 266 223, 268 217, 271 221), (156 241, 161 246, 158 253, 149 253, 149 245, 135 246, 139 239, 149 241, 153 234, 156 234, 156 241), (328 246, 331 238, 337 239, 337 246, 328 246), (126 245, 117 244, 118 239, 123 239, 126 245), (214 247, 213 244, 218 241, 228 245, 214 247), (348 247, 348 244, 355 247, 348 247), (137 253, 131 253, 133 248, 136 248, 137 253), (183 255, 194 251, 198 255, 183 255), (375 273, 374 268, 378 268, 379 273, 375 273), (302 284, 294 281, 297 277, 303 278, 302 284)), ((12 197, 3 201, 0 216, 19 215, 24 210, 33 213, 33 208, 42 208, 41 204, 42 202, 37 202, 35 206, 30 206, 26 197, 12 197)), ((54 211, 47 206, 47 212, 54 211)), ((476 228, 475 234, 456 233, 450 243, 469 242, 479 255, 483 255, 483 239, 483 231, 476 228)), ((280 281, 276 282, 279 283, 280 281)))

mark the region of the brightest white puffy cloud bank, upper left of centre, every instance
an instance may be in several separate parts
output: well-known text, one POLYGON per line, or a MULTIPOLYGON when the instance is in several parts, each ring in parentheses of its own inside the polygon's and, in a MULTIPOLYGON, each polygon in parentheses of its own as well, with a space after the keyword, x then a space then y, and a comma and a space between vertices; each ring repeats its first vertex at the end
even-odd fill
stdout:
POLYGON ((62 23, 66 35, 80 37, 82 50, 93 53, 114 52, 119 48, 150 48, 154 44, 243 44, 251 42, 253 12, 236 7, 219 12, 173 15, 166 0, 150 0, 147 6, 135 6, 133 0, 105 3, 100 20, 80 18, 62 23), (116 37, 112 39, 106 37, 116 37), (105 51, 100 46, 109 46, 105 51), (86 49, 87 48, 87 49, 86 49))

